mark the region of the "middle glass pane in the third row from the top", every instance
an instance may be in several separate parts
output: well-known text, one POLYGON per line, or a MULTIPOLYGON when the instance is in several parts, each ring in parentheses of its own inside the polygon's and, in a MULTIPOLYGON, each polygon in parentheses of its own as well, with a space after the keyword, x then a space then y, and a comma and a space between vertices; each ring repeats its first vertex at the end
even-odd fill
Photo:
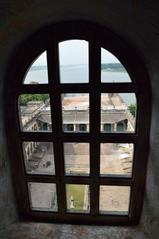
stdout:
POLYGON ((64 159, 67 175, 89 174, 88 143, 64 143, 64 159))

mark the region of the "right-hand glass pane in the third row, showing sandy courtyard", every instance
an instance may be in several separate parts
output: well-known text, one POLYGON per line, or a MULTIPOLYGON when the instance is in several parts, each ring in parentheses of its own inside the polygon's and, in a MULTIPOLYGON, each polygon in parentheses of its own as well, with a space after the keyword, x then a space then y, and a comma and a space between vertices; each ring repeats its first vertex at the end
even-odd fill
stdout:
POLYGON ((131 176, 133 152, 133 144, 101 144, 100 174, 131 176))

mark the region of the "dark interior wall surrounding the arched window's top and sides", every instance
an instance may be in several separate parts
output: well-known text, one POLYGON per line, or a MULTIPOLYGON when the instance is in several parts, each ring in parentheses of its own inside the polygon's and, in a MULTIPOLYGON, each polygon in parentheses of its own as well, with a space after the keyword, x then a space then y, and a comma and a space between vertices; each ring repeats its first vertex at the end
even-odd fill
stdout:
POLYGON ((143 238, 155 238, 159 231, 158 13, 159 3, 155 0, 0 1, 0 229, 17 219, 6 148, 4 127, 7 126, 3 120, 2 97, 12 51, 30 33, 42 26, 63 20, 80 19, 105 25, 126 39, 136 47, 147 67, 152 87, 152 120, 146 193, 138 230, 143 232, 143 238))

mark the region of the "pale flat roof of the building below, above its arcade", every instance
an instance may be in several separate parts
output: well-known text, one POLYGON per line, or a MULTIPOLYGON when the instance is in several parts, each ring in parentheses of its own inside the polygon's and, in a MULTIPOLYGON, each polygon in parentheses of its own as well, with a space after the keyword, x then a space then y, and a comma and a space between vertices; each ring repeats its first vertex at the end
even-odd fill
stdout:
MULTIPOLYGON (((115 123, 127 119, 125 110, 127 105, 118 94, 102 94, 101 97, 101 122, 115 123)), ((89 123, 89 97, 83 95, 64 96, 62 101, 63 122, 70 123, 89 123)), ((50 107, 41 111, 38 120, 51 124, 50 107)))

